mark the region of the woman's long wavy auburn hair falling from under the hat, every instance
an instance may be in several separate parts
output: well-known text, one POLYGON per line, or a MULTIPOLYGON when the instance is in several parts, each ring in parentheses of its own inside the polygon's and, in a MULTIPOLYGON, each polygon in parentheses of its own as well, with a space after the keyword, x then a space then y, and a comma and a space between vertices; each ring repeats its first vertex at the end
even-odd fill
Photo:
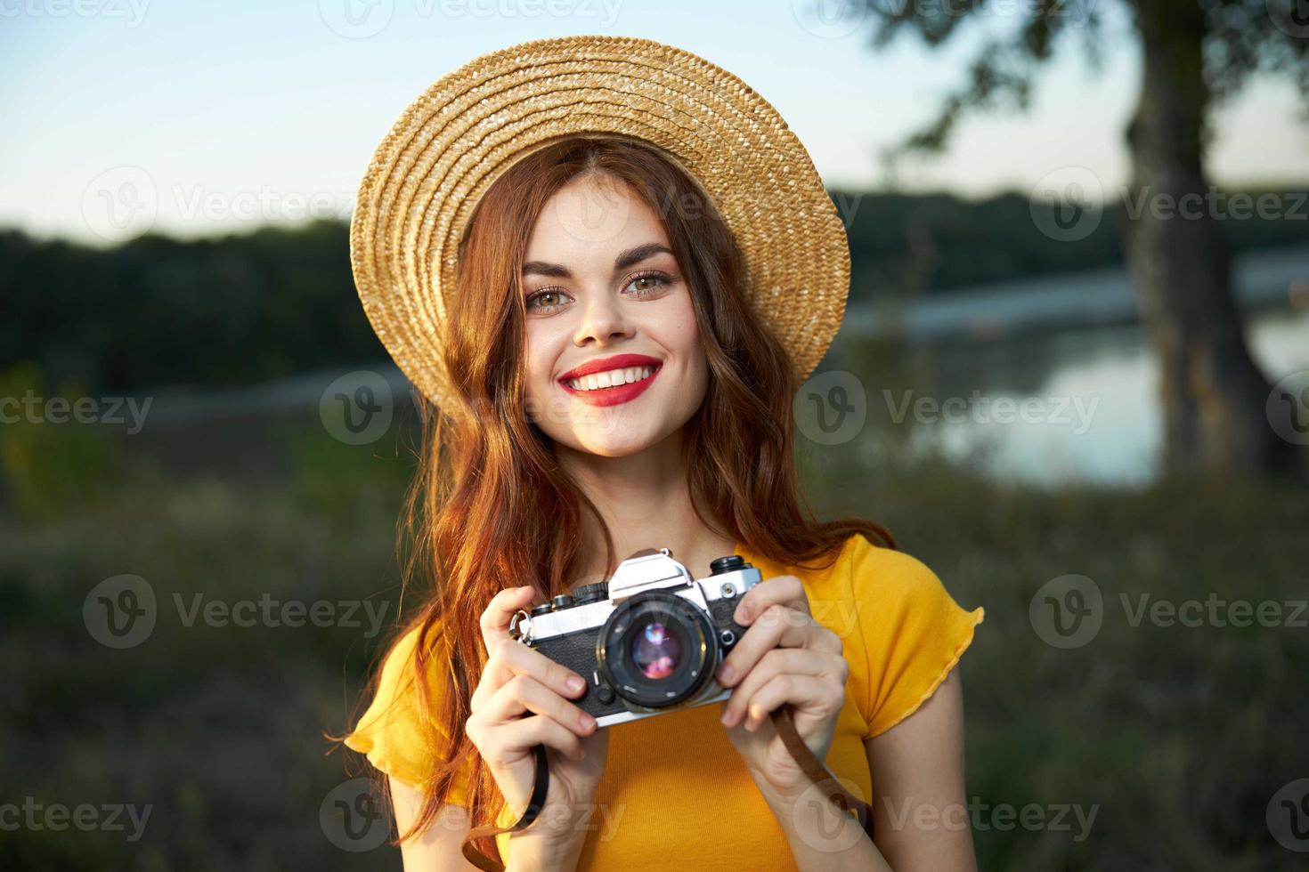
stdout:
MULTIPOLYGON (((419 630, 407 675, 435 669, 445 685, 436 705, 427 681, 415 681, 427 715, 421 729, 432 748, 448 746, 444 736, 457 741, 421 784, 421 812, 397 843, 436 820, 461 769, 469 767, 473 826, 493 822, 504 804, 463 735, 488 659, 479 617, 491 597, 522 584, 535 587, 539 600, 567 592, 581 570, 583 511, 603 531, 606 577, 618 566, 603 518, 525 414, 528 241, 550 197, 584 174, 626 183, 658 216, 686 278, 709 369, 704 403, 685 425, 683 441, 700 520, 787 566, 826 569, 855 533, 895 548, 874 522, 812 516, 793 458, 797 375, 746 299, 736 241, 691 175, 662 150, 628 137, 571 136, 530 153, 487 190, 461 241, 444 346, 450 408, 415 397, 423 435, 398 544, 402 591, 418 587, 420 604, 386 654, 419 630), (823 557, 830 560, 810 565, 823 557)), ((382 662, 369 682, 374 690, 382 662)), ((479 847, 496 851, 490 838, 479 847)))

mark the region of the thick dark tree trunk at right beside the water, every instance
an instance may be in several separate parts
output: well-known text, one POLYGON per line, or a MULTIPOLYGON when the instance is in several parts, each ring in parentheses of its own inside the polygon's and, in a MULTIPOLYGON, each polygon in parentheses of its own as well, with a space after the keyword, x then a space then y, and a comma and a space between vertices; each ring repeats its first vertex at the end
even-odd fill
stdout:
POLYGON ((1295 446, 1268 424, 1271 384, 1246 346, 1215 217, 1227 205, 1204 176, 1204 16, 1194 0, 1140 3, 1136 16, 1144 63, 1127 129, 1124 247, 1160 362, 1161 472, 1284 473, 1296 467, 1295 446))

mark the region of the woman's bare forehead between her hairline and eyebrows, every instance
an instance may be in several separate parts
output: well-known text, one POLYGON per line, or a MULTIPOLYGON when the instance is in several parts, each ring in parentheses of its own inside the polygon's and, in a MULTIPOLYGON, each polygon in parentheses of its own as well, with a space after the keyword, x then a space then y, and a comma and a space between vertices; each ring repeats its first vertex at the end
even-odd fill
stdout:
POLYGON ((525 260, 613 255, 644 242, 668 244, 658 216, 626 183, 609 175, 588 175, 573 179, 546 201, 525 260))

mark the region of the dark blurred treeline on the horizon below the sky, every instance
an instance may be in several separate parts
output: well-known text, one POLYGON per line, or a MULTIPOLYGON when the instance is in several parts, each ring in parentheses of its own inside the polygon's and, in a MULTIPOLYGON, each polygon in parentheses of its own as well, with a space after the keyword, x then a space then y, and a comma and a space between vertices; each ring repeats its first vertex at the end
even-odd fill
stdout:
MULTIPOLYGON (((850 231, 852 302, 1123 263, 1121 204, 1068 243, 1041 233, 1033 209, 1043 207, 1018 193, 831 193, 850 231)), ((1276 193, 1304 205, 1223 221, 1233 252, 1309 241, 1305 192, 1276 193)), ((148 234, 105 250, 4 230, 0 301, 0 369, 27 361, 88 391, 247 384, 386 358, 355 302, 340 221, 148 234)))

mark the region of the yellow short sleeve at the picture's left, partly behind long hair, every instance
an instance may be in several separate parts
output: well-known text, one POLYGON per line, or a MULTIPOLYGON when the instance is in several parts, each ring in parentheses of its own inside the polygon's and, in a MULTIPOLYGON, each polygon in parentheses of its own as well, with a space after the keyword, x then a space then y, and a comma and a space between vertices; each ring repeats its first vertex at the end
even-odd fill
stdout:
MULTIPOLYGON (((377 693, 368 710, 360 716, 355 731, 346 737, 346 746, 368 757, 378 770, 412 787, 431 778, 436 767, 448 758, 452 743, 449 733, 441 727, 439 718, 423 718, 418 706, 415 686, 414 648, 418 645, 419 629, 403 635, 391 648, 382 664, 377 693), (433 745, 424 732, 431 720, 439 733, 439 744, 433 745)), ((428 688, 433 706, 442 705, 445 681, 437 669, 444 662, 432 658, 428 688)), ((469 771, 465 766, 456 775, 448 801, 467 808, 469 771)))

